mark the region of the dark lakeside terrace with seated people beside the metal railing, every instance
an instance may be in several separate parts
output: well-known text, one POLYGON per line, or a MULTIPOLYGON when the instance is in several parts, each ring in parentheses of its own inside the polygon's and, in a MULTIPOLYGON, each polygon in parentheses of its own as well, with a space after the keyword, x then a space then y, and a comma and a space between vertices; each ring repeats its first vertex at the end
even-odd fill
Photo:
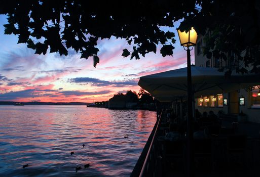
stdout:
MULTIPOLYGON (((166 114, 158 116, 158 126, 154 127, 131 176, 139 176, 141 169, 140 176, 187 176, 187 140, 183 131, 177 141, 164 139, 165 132, 169 131, 166 114), (144 159, 147 159, 146 163, 143 163, 144 159)), ((181 121, 183 123, 183 120, 175 122, 181 121)), ((194 139, 193 176, 260 176, 260 124, 237 123, 236 119, 227 116, 217 124, 218 132, 212 134, 212 124, 203 125, 201 128, 209 130, 208 136, 194 139)))

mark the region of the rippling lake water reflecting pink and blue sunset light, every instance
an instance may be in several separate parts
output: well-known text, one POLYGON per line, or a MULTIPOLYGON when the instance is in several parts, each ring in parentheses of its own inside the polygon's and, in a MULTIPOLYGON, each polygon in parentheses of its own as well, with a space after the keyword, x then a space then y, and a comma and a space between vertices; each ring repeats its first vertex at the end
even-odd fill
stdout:
POLYGON ((144 110, 0 106, 0 175, 129 176, 155 122, 144 110))

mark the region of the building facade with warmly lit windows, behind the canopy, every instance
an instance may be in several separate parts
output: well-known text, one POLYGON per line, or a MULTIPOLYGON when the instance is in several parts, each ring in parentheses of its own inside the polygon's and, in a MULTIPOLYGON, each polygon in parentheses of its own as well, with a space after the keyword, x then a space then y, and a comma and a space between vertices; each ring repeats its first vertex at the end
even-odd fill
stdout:
MULTIPOLYGON (((206 35, 209 35, 208 32, 206 35)), ((243 65, 232 53, 228 53, 228 59, 203 56, 205 47, 204 36, 199 35, 195 46, 195 65, 219 69, 232 69, 243 65)), ((225 74, 223 72, 223 74, 225 74)), ((213 111, 215 114, 224 113, 234 116, 245 114, 247 121, 260 123, 260 85, 252 85, 247 89, 240 89, 230 93, 215 93, 215 95, 201 96, 195 99, 195 109, 201 113, 213 111)))

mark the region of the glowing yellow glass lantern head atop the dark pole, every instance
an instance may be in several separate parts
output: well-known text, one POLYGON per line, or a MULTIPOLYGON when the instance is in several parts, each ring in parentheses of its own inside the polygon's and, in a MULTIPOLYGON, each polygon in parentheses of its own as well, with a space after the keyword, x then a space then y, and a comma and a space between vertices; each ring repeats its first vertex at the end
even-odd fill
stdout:
POLYGON ((177 30, 181 46, 189 48, 196 45, 198 35, 193 27, 187 33, 185 31, 181 32, 179 29, 177 30))

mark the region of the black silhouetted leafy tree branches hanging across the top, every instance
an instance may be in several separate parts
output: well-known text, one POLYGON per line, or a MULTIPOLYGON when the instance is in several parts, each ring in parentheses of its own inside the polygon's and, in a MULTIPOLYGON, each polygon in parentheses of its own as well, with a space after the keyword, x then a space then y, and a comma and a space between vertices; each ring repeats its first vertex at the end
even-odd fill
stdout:
MULTIPOLYGON (((2 1, 0 13, 8 16, 5 34, 19 35, 18 43, 36 54, 59 52, 67 55, 72 48, 81 58, 93 56, 99 63, 97 40, 116 36, 126 39, 132 50, 122 56, 139 55, 160 48, 163 57, 172 55, 175 35, 162 31, 183 19, 181 30, 195 27, 198 33, 212 31, 204 54, 227 58, 232 51, 253 72, 260 71, 260 3, 253 0, 165 0, 148 1, 2 1)), ((237 71, 246 72, 243 68, 237 71)))

